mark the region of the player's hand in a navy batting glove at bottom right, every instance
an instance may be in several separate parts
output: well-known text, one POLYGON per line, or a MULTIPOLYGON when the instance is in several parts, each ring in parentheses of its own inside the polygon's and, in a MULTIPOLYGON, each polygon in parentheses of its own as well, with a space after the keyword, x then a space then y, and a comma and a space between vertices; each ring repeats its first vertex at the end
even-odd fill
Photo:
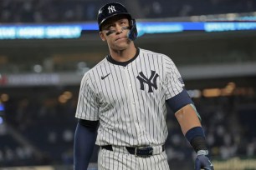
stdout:
POLYGON ((200 150, 197 152, 197 158, 195 162, 196 170, 214 170, 213 165, 209 158, 207 158, 208 151, 200 150))

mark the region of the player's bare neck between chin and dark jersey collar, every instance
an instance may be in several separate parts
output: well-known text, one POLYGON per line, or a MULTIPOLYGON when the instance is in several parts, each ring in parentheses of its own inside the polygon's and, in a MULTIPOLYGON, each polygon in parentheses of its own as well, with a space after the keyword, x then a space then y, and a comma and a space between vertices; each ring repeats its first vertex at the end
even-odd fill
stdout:
POLYGON ((127 62, 132 57, 135 57, 136 47, 134 44, 131 44, 128 48, 121 50, 110 49, 110 55, 117 62, 127 62))

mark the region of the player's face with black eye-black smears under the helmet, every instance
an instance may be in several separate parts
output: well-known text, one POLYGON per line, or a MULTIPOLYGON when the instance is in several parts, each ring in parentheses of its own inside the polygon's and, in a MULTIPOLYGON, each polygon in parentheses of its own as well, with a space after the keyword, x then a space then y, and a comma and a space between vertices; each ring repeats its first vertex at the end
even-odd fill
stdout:
POLYGON ((127 37, 129 20, 127 18, 111 18, 102 26, 100 37, 113 50, 123 50, 129 47, 131 41, 127 37))

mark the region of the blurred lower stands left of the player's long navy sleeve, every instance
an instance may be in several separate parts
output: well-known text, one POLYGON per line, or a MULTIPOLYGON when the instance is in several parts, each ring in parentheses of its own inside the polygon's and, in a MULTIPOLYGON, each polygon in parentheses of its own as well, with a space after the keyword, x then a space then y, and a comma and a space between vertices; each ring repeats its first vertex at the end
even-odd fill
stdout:
POLYGON ((5 102, 0 167, 73 163, 77 98, 59 102, 58 96, 53 97, 49 91, 42 95, 35 93, 5 102), (26 151, 23 152, 26 157, 18 154, 20 150, 26 151))

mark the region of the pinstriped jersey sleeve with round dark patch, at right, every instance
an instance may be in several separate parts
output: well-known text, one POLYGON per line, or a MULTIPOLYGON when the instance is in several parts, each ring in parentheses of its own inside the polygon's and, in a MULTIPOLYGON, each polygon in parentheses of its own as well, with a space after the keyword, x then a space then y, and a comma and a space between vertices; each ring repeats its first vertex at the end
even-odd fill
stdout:
POLYGON ((168 100, 182 92, 185 84, 182 80, 180 72, 170 57, 164 58, 163 65, 164 69, 166 70, 165 87, 166 100, 168 100))

